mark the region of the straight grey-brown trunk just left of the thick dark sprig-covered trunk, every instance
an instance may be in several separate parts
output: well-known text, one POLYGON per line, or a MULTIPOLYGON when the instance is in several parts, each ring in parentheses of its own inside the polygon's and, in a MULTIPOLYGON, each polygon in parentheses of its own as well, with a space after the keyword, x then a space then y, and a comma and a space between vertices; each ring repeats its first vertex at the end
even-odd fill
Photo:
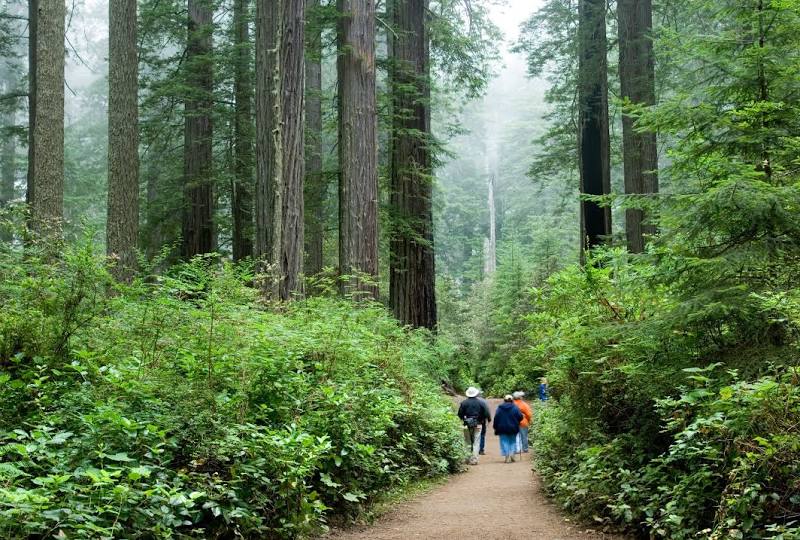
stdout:
MULTIPOLYGON (((378 138, 375 4, 338 0, 339 269, 378 277, 378 138)), ((378 297, 377 284, 353 277, 345 292, 378 297)))

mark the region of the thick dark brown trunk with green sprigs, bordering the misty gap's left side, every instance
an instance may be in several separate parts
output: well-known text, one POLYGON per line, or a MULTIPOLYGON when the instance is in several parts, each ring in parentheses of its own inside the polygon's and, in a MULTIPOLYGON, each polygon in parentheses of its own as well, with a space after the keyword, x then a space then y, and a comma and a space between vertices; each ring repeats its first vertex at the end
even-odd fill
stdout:
POLYGON ((430 48, 427 0, 394 0, 391 66, 391 207, 389 297, 406 325, 436 328, 430 48))

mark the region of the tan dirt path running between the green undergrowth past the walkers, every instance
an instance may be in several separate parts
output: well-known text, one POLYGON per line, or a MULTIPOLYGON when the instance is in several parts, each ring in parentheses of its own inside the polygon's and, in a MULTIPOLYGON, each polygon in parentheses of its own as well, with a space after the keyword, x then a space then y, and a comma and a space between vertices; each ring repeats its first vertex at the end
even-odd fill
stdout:
MULTIPOLYGON (((490 400, 492 409, 499 402, 490 400)), ((478 465, 413 501, 400 503, 371 525, 335 531, 326 538, 622 540, 566 518, 544 495, 530 455, 523 454, 521 462, 504 463, 498 438, 490 428, 486 455, 480 456, 478 465)))

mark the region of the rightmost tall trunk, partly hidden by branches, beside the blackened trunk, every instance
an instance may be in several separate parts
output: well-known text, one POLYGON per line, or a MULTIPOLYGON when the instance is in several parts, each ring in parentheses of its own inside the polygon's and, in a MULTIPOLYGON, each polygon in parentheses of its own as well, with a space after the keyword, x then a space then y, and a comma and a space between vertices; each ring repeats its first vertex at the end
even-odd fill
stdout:
MULTIPOLYGON (((651 0, 619 0, 619 78, 622 97, 637 105, 654 105, 655 64, 653 8, 651 0)), ((639 133, 634 118, 622 116, 625 193, 629 195, 658 192, 658 149, 655 133, 639 133)), ((625 235, 631 253, 644 251, 644 235, 654 234, 655 226, 644 224, 644 212, 625 210, 625 235)))

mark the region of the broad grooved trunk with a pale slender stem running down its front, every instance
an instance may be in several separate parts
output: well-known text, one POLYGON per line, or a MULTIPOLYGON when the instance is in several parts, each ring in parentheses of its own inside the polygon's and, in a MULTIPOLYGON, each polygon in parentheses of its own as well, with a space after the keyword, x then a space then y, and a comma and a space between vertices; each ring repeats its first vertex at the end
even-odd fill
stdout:
POLYGON ((274 273, 269 291, 288 300, 303 292, 305 1, 258 5, 256 252, 274 273))

